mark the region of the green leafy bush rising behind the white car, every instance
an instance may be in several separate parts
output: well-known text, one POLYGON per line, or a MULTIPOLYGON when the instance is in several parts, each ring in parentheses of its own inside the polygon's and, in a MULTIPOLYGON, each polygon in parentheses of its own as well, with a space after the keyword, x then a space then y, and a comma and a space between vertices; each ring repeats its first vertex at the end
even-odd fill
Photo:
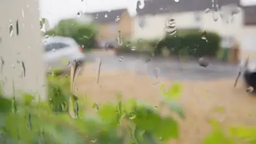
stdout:
POLYGON ((94 47, 95 34, 94 23, 83 24, 73 19, 61 20, 55 28, 45 32, 45 35, 49 36, 71 37, 83 46, 84 50, 94 47))

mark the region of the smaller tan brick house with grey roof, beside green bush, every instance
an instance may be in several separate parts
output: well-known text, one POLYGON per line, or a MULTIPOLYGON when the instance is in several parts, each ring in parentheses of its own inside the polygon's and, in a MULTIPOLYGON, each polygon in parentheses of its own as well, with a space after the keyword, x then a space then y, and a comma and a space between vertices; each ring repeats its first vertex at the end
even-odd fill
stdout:
POLYGON ((96 40, 99 47, 104 47, 107 44, 117 45, 119 31, 123 39, 132 37, 133 19, 127 9, 85 13, 84 15, 94 17, 98 32, 96 40))

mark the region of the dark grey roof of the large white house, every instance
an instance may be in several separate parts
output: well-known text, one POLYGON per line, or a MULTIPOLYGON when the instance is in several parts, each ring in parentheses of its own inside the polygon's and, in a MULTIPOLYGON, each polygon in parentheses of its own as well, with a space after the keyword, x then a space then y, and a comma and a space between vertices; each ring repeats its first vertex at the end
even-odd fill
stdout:
MULTIPOLYGON (((219 8, 226 4, 234 3, 240 5, 240 0, 215 0, 219 8)), ((138 15, 156 15, 160 13, 178 13, 182 11, 201 11, 212 7, 210 0, 148 0, 144 1, 144 8, 138 8, 141 2, 137 2, 138 15)))

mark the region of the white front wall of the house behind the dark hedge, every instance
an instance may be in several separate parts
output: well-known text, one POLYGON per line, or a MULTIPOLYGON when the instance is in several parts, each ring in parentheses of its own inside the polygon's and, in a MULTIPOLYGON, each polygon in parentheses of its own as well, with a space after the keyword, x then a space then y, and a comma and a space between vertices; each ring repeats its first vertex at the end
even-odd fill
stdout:
POLYGON ((237 39, 242 37, 242 12, 234 16, 234 22, 230 25, 223 22, 219 15, 217 15, 218 20, 214 21, 212 13, 206 14, 205 11, 197 11, 196 14, 201 16, 201 21, 196 21, 195 12, 146 15, 144 28, 139 27, 139 18, 136 17, 133 39, 160 39, 164 37, 164 29, 168 19, 174 19, 177 28, 200 28, 206 31, 215 31, 220 35, 234 35, 237 39))

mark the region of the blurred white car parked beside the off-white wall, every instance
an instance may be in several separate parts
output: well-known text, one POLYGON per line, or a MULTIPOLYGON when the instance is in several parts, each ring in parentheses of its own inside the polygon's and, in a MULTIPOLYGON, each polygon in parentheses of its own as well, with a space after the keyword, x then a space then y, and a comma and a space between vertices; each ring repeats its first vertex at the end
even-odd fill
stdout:
POLYGON ((48 72, 50 70, 68 71, 70 63, 78 61, 84 62, 83 49, 73 38, 68 37, 45 37, 43 39, 44 60, 48 72))

